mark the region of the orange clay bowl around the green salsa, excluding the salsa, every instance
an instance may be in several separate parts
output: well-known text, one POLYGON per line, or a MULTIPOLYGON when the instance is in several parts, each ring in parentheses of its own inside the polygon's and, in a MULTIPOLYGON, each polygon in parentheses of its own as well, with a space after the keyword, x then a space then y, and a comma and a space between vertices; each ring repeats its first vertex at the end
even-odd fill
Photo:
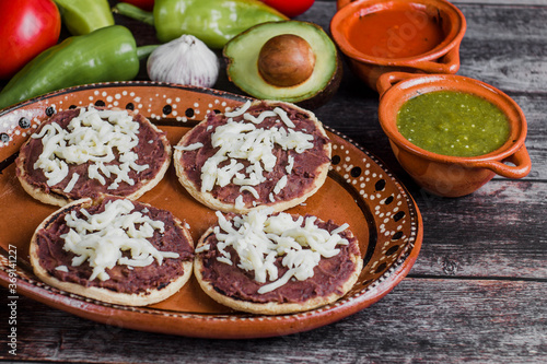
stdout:
POLYGON ((418 75, 394 72, 380 78, 379 118, 403 168, 427 191, 443 197, 469 195, 496 174, 522 178, 532 167, 524 145, 526 119, 516 103, 503 92, 475 79, 455 74, 418 75), (473 157, 435 154, 410 143, 396 125, 401 105, 418 95, 435 91, 459 91, 481 96, 508 117, 510 136, 496 151, 473 157))

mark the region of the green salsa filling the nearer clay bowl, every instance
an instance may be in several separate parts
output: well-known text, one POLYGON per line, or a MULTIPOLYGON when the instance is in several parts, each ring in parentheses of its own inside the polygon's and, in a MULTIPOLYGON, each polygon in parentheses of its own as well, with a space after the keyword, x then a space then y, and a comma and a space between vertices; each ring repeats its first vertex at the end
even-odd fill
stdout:
POLYGON ((510 133, 508 118, 496 105, 455 91, 410 98, 397 114, 397 128, 412 144, 452 156, 493 152, 510 133))

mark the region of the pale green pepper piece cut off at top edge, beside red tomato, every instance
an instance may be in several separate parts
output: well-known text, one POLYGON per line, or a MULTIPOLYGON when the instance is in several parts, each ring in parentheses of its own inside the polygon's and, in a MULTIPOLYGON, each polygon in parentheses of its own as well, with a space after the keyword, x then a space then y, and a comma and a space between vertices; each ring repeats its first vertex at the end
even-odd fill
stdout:
POLYGON ((83 35, 114 25, 107 0, 55 0, 62 23, 72 35, 83 35))

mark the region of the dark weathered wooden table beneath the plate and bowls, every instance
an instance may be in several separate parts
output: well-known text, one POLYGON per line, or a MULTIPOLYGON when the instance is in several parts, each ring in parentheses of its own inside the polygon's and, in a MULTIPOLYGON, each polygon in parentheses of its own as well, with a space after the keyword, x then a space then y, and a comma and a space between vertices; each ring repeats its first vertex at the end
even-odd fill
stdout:
MULTIPOLYGON (((7 352, 8 291, 0 289, 0 359, 40 362, 545 363, 547 362, 547 1, 457 1, 467 19, 459 74, 512 96, 528 121, 533 167, 457 199, 429 195, 400 169, 377 122, 377 94, 350 71, 315 110, 371 151, 408 187, 424 238, 410 274, 373 306, 309 332, 201 340, 95 324, 21 297, 18 356, 7 352)), ((335 2, 301 20, 328 30, 335 2)), ((149 26, 117 16, 140 44, 149 26)), ((139 79, 146 80, 141 72, 139 79)), ((217 89, 236 91, 225 79, 217 89)))

